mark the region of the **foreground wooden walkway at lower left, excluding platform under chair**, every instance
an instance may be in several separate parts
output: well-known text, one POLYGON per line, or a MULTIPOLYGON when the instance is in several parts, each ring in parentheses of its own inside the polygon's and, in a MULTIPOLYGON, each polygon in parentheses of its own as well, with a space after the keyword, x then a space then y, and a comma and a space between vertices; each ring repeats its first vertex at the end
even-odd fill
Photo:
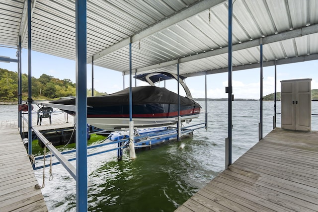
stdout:
POLYGON ((17 128, 0 130, 0 212, 48 211, 17 128))

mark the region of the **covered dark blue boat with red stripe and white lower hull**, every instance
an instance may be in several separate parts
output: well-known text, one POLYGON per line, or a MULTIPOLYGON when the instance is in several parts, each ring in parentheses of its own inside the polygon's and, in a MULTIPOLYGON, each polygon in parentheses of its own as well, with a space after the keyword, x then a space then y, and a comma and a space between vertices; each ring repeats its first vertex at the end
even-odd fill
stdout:
MULTIPOLYGON (((76 98, 50 101, 75 105, 76 98)), ((132 87, 133 121, 135 128, 167 126, 177 123, 178 94, 163 87, 132 87)), ((181 121, 197 118, 201 106, 192 98, 180 96, 181 121)), ((75 115, 73 111, 66 111, 75 115)), ((116 93, 87 97, 87 123, 108 131, 129 128, 129 88, 116 93)))

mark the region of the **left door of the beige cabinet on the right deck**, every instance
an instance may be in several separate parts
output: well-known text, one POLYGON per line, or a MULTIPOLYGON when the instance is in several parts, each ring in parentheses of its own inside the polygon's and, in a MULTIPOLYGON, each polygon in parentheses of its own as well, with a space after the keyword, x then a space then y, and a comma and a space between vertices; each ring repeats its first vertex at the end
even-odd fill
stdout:
POLYGON ((295 130, 295 81, 281 83, 282 129, 295 130))

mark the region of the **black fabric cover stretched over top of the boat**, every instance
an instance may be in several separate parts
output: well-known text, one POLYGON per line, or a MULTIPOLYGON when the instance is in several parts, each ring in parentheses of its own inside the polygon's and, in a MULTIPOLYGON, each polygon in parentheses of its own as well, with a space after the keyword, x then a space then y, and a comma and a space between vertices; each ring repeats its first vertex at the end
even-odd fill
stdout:
MULTIPOLYGON (((163 87, 139 86, 132 87, 133 104, 178 104, 178 94, 163 87)), ((75 105, 75 97, 61 98, 50 103, 75 105)), ((87 106, 104 107, 114 105, 129 105, 129 88, 116 93, 87 97, 87 106)), ((200 107, 198 103, 187 97, 180 96, 180 105, 200 107)))

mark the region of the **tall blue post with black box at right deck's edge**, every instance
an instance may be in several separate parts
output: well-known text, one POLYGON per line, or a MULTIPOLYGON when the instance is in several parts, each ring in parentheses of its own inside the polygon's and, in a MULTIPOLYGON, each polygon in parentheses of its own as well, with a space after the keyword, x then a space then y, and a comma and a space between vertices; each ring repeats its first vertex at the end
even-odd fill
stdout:
POLYGON ((229 87, 228 87, 228 166, 232 164, 232 19, 233 19, 233 3, 229 0, 229 87))

